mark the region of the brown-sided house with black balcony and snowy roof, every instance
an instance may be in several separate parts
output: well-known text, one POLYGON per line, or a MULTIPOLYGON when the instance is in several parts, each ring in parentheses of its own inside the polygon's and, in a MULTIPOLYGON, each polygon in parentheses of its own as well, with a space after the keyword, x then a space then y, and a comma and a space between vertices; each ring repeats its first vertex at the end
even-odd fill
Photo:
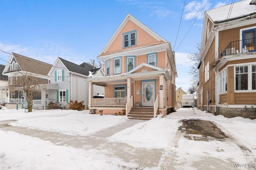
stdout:
POLYGON ((204 12, 198 108, 256 118, 256 1, 204 12))

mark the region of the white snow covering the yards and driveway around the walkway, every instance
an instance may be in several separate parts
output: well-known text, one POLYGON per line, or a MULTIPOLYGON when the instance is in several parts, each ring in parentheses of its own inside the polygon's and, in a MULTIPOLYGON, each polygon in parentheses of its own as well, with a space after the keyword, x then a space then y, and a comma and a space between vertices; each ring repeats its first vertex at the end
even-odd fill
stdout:
MULTIPOLYGON (((126 116, 89 114, 87 111, 73 110, 36 110, 25 113, 20 109, 0 110, 0 123, 6 120, 18 120, 12 126, 28 127, 63 133, 66 135, 86 136, 96 131, 113 127, 129 121, 126 116)), ((169 162, 175 169, 196 169, 201 164, 208 168, 221 168, 222 164, 247 164, 254 166, 256 160, 256 119, 242 117, 226 118, 222 115, 192 108, 181 108, 166 117, 157 117, 140 122, 108 137, 109 142, 126 143, 135 148, 162 149, 163 154, 158 167, 168 169, 169 162), (202 119, 214 122, 230 138, 225 141, 194 141, 184 137, 178 128, 182 119, 202 119), (241 149, 242 148, 242 149, 241 149), (246 148, 246 149, 244 149, 246 148), (246 156, 247 155, 247 156, 246 156), (209 160, 218 160, 219 164, 210 164, 209 160), (201 162, 195 165, 195 162, 201 162), (204 163, 205 162, 205 163, 204 163)), ((241 166, 241 165, 239 165, 241 166)), ((69 146, 54 145, 36 137, 21 135, 0 129, 0 167, 2 169, 124 169, 136 167, 116 156, 104 154, 96 149, 78 149, 69 146)), ((234 168, 230 164, 227 169, 234 168)), ((151 169, 145 167, 145 169, 151 169)))

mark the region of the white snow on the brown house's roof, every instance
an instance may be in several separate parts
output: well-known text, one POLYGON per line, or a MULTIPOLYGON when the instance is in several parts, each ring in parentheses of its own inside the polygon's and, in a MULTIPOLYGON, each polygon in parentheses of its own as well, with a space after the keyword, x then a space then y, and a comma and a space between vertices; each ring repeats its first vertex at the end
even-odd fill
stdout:
POLYGON ((251 1, 252 0, 242 0, 233 4, 228 4, 225 6, 220 6, 218 8, 207 10, 205 13, 214 23, 226 20, 234 20, 236 18, 243 18, 245 16, 256 14, 256 5, 250 4, 251 1), (229 16, 230 9, 232 10, 229 16))

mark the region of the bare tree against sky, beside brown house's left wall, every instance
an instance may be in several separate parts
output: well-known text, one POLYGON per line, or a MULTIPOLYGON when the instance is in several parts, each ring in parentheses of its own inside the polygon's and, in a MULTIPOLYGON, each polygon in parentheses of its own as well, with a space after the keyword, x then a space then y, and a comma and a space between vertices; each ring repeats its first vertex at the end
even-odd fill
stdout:
POLYGON ((201 43, 197 43, 196 48, 196 52, 187 55, 190 60, 189 62, 192 63, 192 66, 190 66, 190 70, 188 71, 192 86, 197 86, 199 81, 199 69, 197 67, 200 64, 201 43))

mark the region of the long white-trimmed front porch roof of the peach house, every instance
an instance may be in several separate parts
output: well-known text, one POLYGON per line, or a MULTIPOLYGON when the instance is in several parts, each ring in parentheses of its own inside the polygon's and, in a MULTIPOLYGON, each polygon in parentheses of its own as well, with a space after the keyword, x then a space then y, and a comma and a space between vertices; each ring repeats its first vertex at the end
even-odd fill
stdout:
POLYGON ((104 86, 106 84, 126 82, 127 78, 132 78, 134 80, 158 79, 160 75, 164 75, 164 78, 166 78, 166 80, 171 80, 171 76, 168 72, 168 69, 163 69, 150 72, 136 72, 131 74, 119 74, 113 76, 86 78, 85 81, 93 82, 97 85, 104 86))

